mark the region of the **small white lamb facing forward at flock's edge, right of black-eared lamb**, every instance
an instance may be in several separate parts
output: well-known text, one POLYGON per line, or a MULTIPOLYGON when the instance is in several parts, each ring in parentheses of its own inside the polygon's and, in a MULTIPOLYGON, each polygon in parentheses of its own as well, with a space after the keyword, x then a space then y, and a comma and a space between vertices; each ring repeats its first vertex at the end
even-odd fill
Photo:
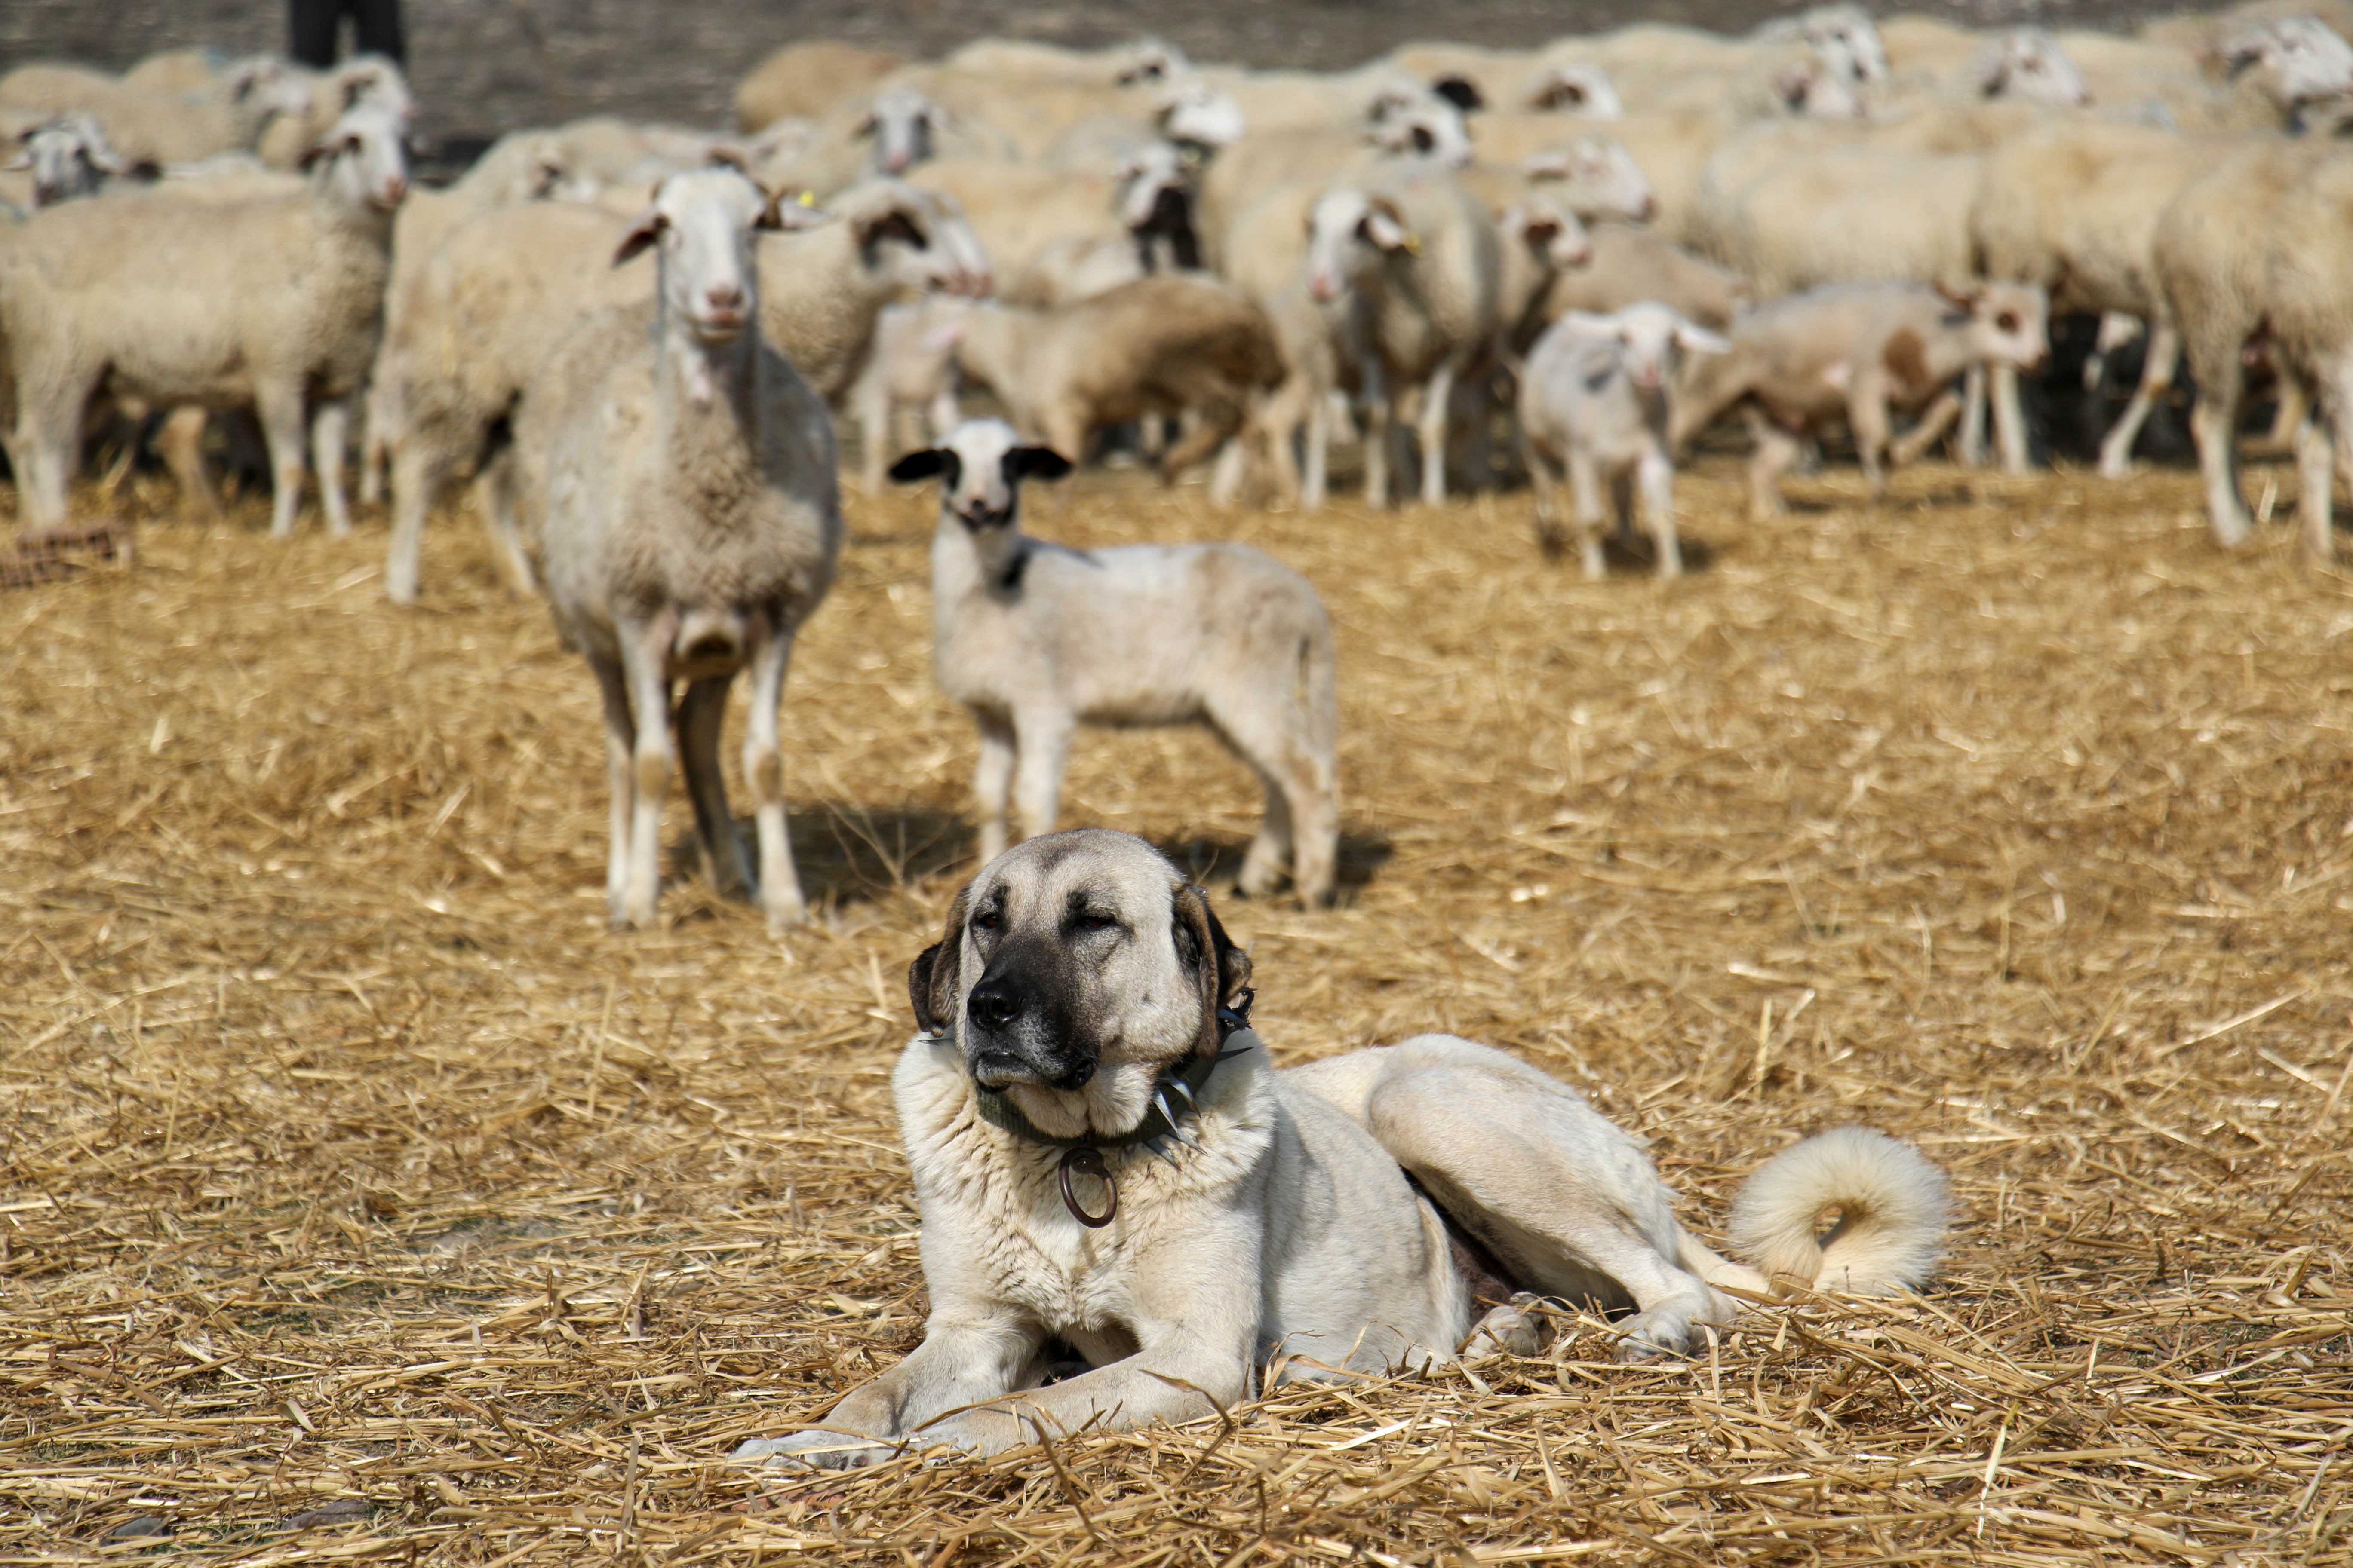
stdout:
POLYGON ((1682 355, 1720 355, 1732 343, 1645 301, 1617 315, 1572 310, 1553 322, 1520 371, 1520 435, 1537 484, 1537 531, 1558 548, 1558 470, 1569 475, 1586 576, 1602 576, 1602 496, 1609 484, 1619 534, 1633 531, 1633 498, 1659 545, 1659 576, 1682 576, 1675 536, 1673 388, 1682 355))

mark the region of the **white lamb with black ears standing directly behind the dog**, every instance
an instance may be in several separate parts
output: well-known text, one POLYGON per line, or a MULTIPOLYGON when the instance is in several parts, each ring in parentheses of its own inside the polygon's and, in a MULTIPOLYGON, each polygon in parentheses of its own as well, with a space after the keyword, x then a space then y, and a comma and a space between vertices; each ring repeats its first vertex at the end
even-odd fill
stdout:
POLYGON ((1301 903, 1332 898, 1339 853, 1332 621, 1289 567, 1249 545, 1071 550, 1021 531, 1021 480, 1071 463, 972 418, 889 470, 939 475, 932 670, 981 726, 972 788, 981 860, 1052 832, 1080 724, 1207 724, 1266 785, 1245 893, 1292 872, 1301 903))

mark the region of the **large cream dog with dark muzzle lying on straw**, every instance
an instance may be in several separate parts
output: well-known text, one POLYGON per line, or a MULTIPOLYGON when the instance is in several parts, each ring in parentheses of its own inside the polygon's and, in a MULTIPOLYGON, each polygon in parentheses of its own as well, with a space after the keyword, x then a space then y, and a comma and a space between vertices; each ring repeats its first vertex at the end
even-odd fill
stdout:
POLYGON ((922 1034, 894 1091, 932 1321, 824 1425, 739 1460, 998 1453, 1212 1415, 1254 1368, 1532 1354, 1513 1291, 1631 1307, 1621 1359, 1687 1352, 1734 1316, 1718 1286, 1901 1291, 1946 1227, 1927 1159, 1838 1128, 1748 1180, 1741 1267, 1675 1222, 1626 1133, 1501 1051, 1421 1034, 1278 1072, 1247 1023, 1249 957, 1125 832, 991 860, 908 992, 922 1034), (1047 1382, 1064 1347, 1089 1371, 1047 1382))

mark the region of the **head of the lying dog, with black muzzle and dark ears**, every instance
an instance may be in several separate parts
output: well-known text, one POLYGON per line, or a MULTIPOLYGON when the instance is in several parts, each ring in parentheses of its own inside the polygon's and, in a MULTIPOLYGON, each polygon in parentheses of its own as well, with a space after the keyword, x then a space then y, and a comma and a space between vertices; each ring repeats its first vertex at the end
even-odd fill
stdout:
POLYGON ((1061 1138, 1144 1121, 1160 1070, 1214 1053, 1217 1013, 1247 985, 1209 896, 1104 827, 991 860, 906 971, 915 1023, 1061 1138))

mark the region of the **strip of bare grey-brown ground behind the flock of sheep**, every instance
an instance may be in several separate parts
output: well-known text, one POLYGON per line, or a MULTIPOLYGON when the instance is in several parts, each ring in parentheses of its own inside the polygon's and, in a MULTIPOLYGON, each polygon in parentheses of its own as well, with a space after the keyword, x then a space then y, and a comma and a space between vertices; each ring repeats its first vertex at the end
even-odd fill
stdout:
MULTIPOLYGON (((1155 33, 1202 61, 1355 66, 1414 38, 1534 45, 1626 21, 1746 31, 1805 9, 1774 0, 405 0, 409 68, 428 139, 480 141, 522 125, 624 113, 727 125, 734 82, 798 38, 847 38, 915 56, 984 33, 1101 47, 1155 33)), ((1873 7, 1880 9, 1880 7, 1873 7)), ((1887 7, 1897 9, 1897 7, 1887 7)), ((1962 0, 1918 5, 1969 24, 2115 26, 2177 5, 2132 0, 1962 0)), ((254 0, 7 0, 0 71, 85 59, 120 71, 155 49, 285 49, 285 5, 254 0)))

